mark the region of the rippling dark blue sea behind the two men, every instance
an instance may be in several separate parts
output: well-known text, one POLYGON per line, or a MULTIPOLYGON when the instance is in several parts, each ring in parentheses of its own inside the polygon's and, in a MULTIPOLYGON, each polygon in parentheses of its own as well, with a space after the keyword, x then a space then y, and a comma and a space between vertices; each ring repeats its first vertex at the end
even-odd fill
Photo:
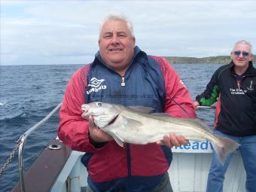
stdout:
MULTIPOLYGON (((16 141, 35 123, 62 102, 72 74, 83 65, 0 66, 0 169, 16 141)), ((220 64, 173 64, 193 99, 205 90, 220 64)), ((215 111, 197 110, 197 116, 213 126, 215 111)), ((25 172, 56 138, 58 113, 26 140, 23 154, 25 172)), ((0 191, 11 191, 18 181, 17 154, 0 175, 0 191)))

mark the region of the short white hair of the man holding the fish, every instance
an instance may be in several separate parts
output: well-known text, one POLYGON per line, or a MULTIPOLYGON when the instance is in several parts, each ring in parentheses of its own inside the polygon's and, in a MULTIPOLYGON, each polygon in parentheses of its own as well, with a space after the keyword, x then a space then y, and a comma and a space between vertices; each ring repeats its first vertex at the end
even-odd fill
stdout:
POLYGON ((131 35, 134 37, 133 34, 133 23, 128 19, 128 17, 126 17, 126 15, 122 14, 122 13, 118 13, 118 12, 111 12, 109 13, 105 19, 102 20, 102 22, 100 23, 99 26, 99 35, 100 32, 102 31, 102 26, 107 23, 109 20, 120 20, 126 23, 126 25, 128 26, 129 31, 131 32, 131 35))

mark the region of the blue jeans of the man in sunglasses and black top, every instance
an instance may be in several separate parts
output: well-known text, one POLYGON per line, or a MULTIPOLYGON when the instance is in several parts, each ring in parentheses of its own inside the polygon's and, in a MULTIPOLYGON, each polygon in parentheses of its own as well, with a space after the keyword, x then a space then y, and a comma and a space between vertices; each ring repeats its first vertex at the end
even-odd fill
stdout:
MULTIPOLYGON (((215 134, 219 136, 225 136, 234 141, 238 142, 241 146, 239 147, 242 161, 245 166, 246 172, 246 183, 245 188, 247 192, 256 191, 256 136, 230 136, 224 133, 221 133, 218 130, 215 130, 215 134)), ((223 181, 224 174, 227 171, 227 166, 230 163, 231 157, 233 154, 230 154, 227 157, 224 166, 221 165, 218 160, 215 151, 213 152, 212 165, 209 170, 208 181, 207 181, 207 192, 222 192, 223 191, 223 181)))

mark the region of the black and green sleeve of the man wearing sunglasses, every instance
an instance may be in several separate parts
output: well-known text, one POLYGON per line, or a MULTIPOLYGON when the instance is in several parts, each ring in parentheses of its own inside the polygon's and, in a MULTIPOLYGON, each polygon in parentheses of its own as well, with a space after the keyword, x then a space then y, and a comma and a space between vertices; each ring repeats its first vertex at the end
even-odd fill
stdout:
POLYGON ((203 93, 198 95, 196 97, 197 102, 200 103, 200 105, 204 106, 210 106, 217 102, 218 96, 220 93, 219 87, 218 87, 218 70, 212 75, 211 80, 209 81, 209 84, 206 86, 206 90, 204 90, 203 93))

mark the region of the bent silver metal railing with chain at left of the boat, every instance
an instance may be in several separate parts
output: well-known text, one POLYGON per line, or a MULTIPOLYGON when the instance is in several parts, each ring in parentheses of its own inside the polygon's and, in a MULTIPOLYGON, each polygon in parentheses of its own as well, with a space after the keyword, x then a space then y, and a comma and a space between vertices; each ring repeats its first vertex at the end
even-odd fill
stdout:
POLYGON ((25 184, 24 184, 24 169, 23 169, 23 148, 26 142, 26 139, 28 136, 33 133, 35 130, 38 129, 39 126, 43 125, 47 120, 53 116, 53 114, 56 113, 56 111, 59 110, 60 106, 62 105, 62 102, 59 103, 59 105, 56 106, 56 108, 53 109, 53 111, 50 111, 49 114, 47 114, 44 119, 40 120, 38 123, 36 123, 34 126, 32 126, 29 130, 27 130, 22 136, 20 136, 20 146, 18 151, 18 160, 19 160, 19 177, 20 177, 20 191, 25 192, 25 184))

